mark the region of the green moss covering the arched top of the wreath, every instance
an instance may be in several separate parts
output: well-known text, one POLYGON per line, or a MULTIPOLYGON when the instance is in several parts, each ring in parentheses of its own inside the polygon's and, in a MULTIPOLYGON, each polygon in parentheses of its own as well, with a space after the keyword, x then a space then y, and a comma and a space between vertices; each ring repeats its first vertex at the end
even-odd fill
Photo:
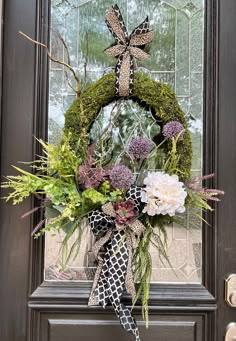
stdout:
MULTIPOLYGON (((90 128, 100 109, 115 99, 115 74, 110 73, 89 86, 67 110, 64 133, 70 136, 70 143, 77 153, 78 140, 82 141, 84 146, 87 145, 90 128)), ((180 109, 174 92, 167 85, 137 72, 131 99, 141 105, 148 105, 153 115, 161 120, 163 125, 177 120, 187 129, 185 114, 180 109)), ((167 145, 167 153, 170 147, 171 145, 167 145)), ((186 180, 190 177, 192 162, 192 142, 188 130, 185 131, 183 141, 178 143, 178 153, 180 177, 186 180)))

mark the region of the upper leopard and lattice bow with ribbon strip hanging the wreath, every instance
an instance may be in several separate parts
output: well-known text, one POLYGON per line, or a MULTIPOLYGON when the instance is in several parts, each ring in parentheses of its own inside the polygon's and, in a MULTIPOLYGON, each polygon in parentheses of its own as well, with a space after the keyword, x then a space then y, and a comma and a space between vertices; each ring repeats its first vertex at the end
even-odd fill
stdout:
POLYGON ((145 60, 149 54, 140 47, 149 44, 153 32, 149 31, 148 17, 128 35, 124 20, 117 5, 112 6, 105 15, 106 24, 116 39, 117 45, 104 51, 111 57, 118 57, 116 64, 116 95, 132 95, 134 85, 134 58, 145 60))

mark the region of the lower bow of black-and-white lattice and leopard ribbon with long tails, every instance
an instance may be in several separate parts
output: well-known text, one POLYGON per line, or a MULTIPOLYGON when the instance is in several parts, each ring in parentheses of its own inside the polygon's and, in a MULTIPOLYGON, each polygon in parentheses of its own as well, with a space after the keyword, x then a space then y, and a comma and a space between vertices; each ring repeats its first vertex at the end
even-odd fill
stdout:
MULTIPOLYGON (((139 210, 141 205, 141 188, 133 186, 127 192, 127 200, 132 199, 139 210)), ((135 220, 129 226, 115 223, 115 211, 111 203, 101 210, 93 211, 88 216, 88 222, 97 242, 93 252, 98 260, 98 267, 89 299, 89 305, 100 304, 103 308, 110 302, 125 330, 135 336, 135 341, 140 341, 138 328, 130 310, 120 302, 126 288, 127 292, 135 297, 135 286, 132 273, 133 249, 135 248, 135 235, 140 235, 143 224, 135 220), (100 238, 99 238, 100 236, 100 238), (105 247, 102 258, 99 251, 105 247)))

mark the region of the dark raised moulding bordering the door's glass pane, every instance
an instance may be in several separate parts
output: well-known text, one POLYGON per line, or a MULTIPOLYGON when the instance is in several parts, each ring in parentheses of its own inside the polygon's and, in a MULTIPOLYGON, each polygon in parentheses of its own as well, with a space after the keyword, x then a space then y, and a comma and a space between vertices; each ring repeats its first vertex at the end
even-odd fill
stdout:
MULTIPOLYGON (((49 43, 48 27, 50 27, 50 4, 48 0, 41 0, 41 6, 38 10, 39 21, 37 27, 37 39, 45 44, 49 43)), ((205 9, 205 77, 204 77, 204 174, 212 173, 213 170, 217 173, 217 141, 215 136, 218 134, 218 112, 217 112, 217 72, 218 72, 218 0, 206 1, 205 9)), ((30 47, 29 48, 33 48, 30 47)), ((48 71, 47 57, 45 51, 37 48, 36 58, 36 112, 38 121, 36 122, 35 132, 38 138, 47 137, 47 103, 48 103, 48 71), (43 67, 42 67, 43 65, 43 67)), ((35 147, 35 155, 40 153, 40 150, 35 147)), ((217 179, 216 179, 217 182, 217 179)), ((35 216, 35 224, 37 223, 37 215, 35 216)), ((184 284, 153 284, 151 286, 151 302, 168 301, 178 304, 178 301, 183 301, 185 298, 192 304, 199 302, 211 302, 215 304, 215 278, 216 273, 216 243, 217 243, 217 215, 209 213, 206 217, 210 225, 203 226, 203 284, 184 285, 184 284), (191 288, 190 290, 188 288, 191 288)), ((55 283, 51 285, 49 282, 43 281, 42 264, 44 261, 44 242, 33 241, 31 259, 32 274, 30 278, 31 295, 30 300, 41 297, 51 297, 58 288, 60 292, 65 294, 70 299, 75 299, 78 302, 79 297, 88 297, 91 284, 89 283, 74 283, 73 286, 66 283, 55 283), (75 290, 73 290, 76 288, 75 290)), ((58 297, 58 296, 57 296, 58 297)))

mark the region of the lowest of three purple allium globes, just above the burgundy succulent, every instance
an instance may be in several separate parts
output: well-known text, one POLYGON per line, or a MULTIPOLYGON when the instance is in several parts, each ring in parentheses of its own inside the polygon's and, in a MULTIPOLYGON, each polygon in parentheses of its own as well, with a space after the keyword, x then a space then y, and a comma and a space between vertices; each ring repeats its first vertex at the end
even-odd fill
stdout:
POLYGON ((131 170, 124 165, 114 166, 110 170, 109 176, 112 187, 118 189, 128 189, 134 182, 131 170))

